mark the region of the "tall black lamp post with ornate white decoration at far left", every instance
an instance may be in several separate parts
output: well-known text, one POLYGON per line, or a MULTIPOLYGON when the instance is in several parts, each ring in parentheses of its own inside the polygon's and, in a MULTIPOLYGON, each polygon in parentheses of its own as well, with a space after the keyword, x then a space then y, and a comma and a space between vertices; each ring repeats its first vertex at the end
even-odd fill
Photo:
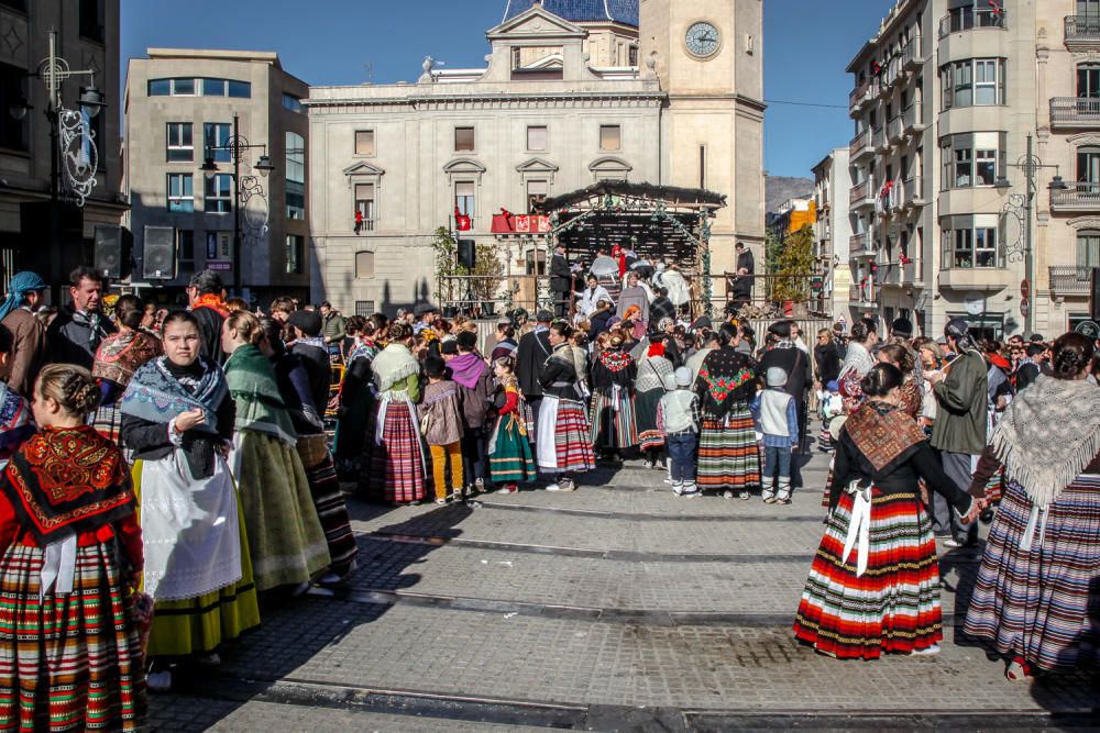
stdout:
MULTIPOLYGON (((96 71, 72 69, 68 62, 57 55, 57 31, 50 31, 50 55, 38 64, 38 69, 26 78, 42 79, 48 98, 44 114, 50 123, 50 284, 53 301, 59 302, 62 273, 62 203, 82 208, 98 182, 96 170, 99 155, 90 120, 107 107, 103 92, 96 88, 96 71), (65 107, 62 84, 73 77, 87 77, 88 87, 80 88, 77 103, 80 110, 65 107)), ((8 112, 22 120, 34 109, 25 98, 11 102, 8 112)))

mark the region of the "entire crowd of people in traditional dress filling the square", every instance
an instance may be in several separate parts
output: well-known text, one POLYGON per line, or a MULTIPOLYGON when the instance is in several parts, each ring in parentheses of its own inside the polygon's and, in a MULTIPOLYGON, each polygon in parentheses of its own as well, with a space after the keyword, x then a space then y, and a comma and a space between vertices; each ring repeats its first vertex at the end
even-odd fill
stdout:
POLYGON ((904 319, 880 338, 859 320, 811 347, 794 321, 691 319, 675 268, 638 263, 601 253, 564 312, 515 310, 492 334, 428 303, 389 320, 278 298, 265 315, 211 271, 186 310, 130 295, 108 310, 79 268, 43 316, 46 284, 15 275, 0 304, 0 726, 136 730, 175 665, 217 665, 264 604, 344 584, 358 548, 341 479, 447 504, 574 491, 597 460, 640 459, 670 500, 783 507, 812 410, 832 467, 801 642, 937 651, 937 553, 975 544, 983 517, 966 633, 1010 679, 1098 660, 1091 338, 979 343, 953 320, 934 341, 904 319))

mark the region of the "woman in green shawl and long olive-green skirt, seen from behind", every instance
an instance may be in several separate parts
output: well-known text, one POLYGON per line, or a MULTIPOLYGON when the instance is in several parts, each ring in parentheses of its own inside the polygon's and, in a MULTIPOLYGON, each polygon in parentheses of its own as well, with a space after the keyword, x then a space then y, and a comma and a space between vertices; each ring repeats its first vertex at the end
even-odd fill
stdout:
POLYGON ((275 370, 256 345, 260 321, 248 311, 222 324, 226 381, 237 402, 230 466, 241 492, 256 589, 296 586, 331 562, 321 522, 295 448, 298 434, 283 402, 275 370))

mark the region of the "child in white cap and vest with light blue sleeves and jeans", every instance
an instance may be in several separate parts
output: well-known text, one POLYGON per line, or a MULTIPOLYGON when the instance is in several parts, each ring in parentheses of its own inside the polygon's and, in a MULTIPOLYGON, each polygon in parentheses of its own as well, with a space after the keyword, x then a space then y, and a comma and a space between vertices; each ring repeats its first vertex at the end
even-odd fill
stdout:
POLYGON ((791 503, 791 448, 799 444, 799 407, 783 391, 787 371, 769 367, 765 374, 768 388, 756 396, 750 409, 757 430, 763 433, 763 500, 765 503, 791 503), (778 492, 772 476, 779 471, 778 492))

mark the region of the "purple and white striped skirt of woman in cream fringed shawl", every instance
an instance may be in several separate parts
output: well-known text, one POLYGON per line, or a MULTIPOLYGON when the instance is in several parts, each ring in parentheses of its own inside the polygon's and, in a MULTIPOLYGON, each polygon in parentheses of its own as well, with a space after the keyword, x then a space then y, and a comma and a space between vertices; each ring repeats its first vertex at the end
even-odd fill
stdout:
POLYGON ((1041 518, 1024 552, 1031 512, 1023 488, 1009 481, 964 631, 1041 669, 1100 665, 1100 476, 1070 484, 1050 504, 1045 533, 1041 518))

